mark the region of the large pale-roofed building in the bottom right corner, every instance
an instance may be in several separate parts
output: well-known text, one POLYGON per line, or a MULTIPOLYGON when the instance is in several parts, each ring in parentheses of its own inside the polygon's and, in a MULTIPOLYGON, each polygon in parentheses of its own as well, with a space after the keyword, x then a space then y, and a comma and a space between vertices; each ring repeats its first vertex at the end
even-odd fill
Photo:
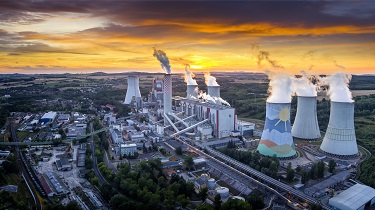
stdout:
POLYGON ((375 189, 362 184, 356 184, 329 199, 329 205, 337 210, 364 210, 365 206, 375 203, 375 189))

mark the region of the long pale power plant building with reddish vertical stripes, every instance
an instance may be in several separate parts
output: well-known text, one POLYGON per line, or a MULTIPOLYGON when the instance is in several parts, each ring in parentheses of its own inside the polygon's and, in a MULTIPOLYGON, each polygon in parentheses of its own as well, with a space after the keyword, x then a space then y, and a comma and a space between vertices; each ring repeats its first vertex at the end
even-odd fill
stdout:
MULTIPOLYGON (((181 99, 181 106, 187 116, 195 115, 198 121, 208 119, 216 138, 228 137, 236 129, 235 108, 191 99, 181 99)), ((204 135, 210 136, 207 133, 204 135)))

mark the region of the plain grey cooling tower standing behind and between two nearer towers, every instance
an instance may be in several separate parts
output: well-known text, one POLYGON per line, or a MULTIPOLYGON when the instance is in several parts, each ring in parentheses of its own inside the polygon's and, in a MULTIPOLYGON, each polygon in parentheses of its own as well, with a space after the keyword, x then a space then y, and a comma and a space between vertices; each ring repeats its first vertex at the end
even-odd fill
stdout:
POLYGON ((316 97, 298 96, 297 100, 297 114, 292 127, 292 136, 306 140, 319 139, 316 97))

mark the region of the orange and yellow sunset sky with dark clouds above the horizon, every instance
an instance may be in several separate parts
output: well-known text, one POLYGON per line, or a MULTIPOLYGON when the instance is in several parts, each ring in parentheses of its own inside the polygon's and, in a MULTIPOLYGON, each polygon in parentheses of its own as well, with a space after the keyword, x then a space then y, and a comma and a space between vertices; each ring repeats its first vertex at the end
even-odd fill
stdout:
POLYGON ((0 73, 162 72, 153 47, 172 72, 375 73, 375 3, 0 1, 0 73))

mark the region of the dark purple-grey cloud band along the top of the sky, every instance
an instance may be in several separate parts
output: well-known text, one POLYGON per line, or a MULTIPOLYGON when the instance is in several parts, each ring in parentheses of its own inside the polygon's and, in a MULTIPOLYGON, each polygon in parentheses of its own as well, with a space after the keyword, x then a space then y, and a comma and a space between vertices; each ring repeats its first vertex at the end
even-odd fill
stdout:
MULTIPOLYGON (((375 6, 371 1, 5 1, 0 19, 23 21, 28 13, 86 13, 116 23, 147 20, 180 23, 272 23, 277 26, 372 26, 375 6), (14 13, 20 17, 9 17, 14 13), (25 16, 26 15, 26 16, 25 16), (22 17, 23 16, 23 17, 22 17)), ((41 21, 35 18, 32 21, 41 21)))

